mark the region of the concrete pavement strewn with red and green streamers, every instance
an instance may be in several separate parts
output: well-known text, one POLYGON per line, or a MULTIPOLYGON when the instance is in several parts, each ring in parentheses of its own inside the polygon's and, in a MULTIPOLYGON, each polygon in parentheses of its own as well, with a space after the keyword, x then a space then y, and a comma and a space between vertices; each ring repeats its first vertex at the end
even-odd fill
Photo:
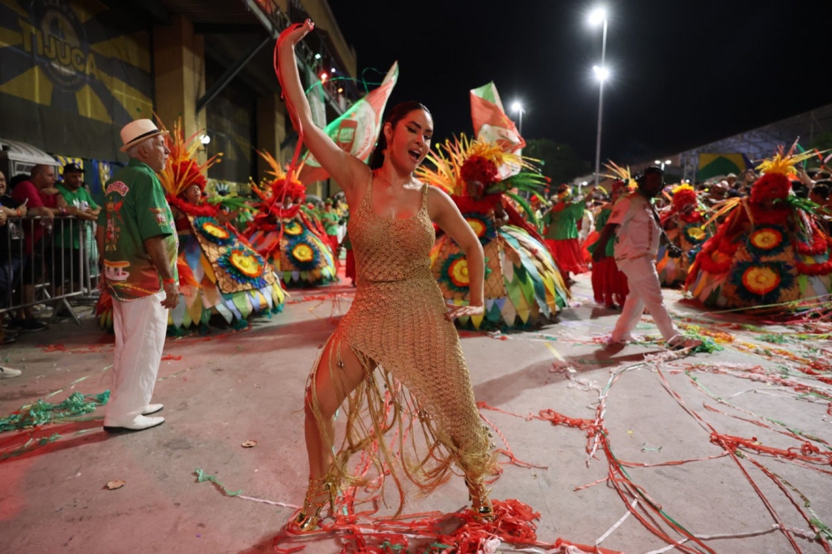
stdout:
MULTIPOLYGON (((751 320, 703 316, 701 306, 666 292, 680 321, 733 339, 724 351, 669 360, 656 344, 602 344, 617 312, 594 306, 588 283, 588 275, 579 277, 573 287, 576 306, 554 325, 508 336, 462 333, 477 400, 504 410, 483 409, 483 416, 519 460, 537 466, 512 465, 501 457, 506 464, 493 498, 518 498, 540 512, 542 542, 562 537, 592 545, 622 520, 633 501, 603 481, 611 467, 617 468, 610 460, 617 459, 627 464, 629 480, 644 494, 635 510, 651 514, 642 517, 673 540, 681 535, 649 508, 642 510, 646 498, 689 532, 710 536, 703 542, 713 552, 795 552, 784 532, 772 531, 778 520, 795 530, 790 536, 800 552, 825 552, 804 537, 815 532, 787 493, 809 513, 795 492, 800 491, 815 513, 810 517, 832 523, 832 467, 810 459, 829 457, 822 441, 832 439, 830 402, 824 396, 832 393, 832 381, 799 371, 807 360, 818 360, 821 376, 832 376, 823 365, 832 357, 830 341, 794 335, 783 335, 785 344, 765 341, 775 340, 766 334, 823 329, 753 331, 740 327, 751 320), (587 445, 595 443, 586 429, 504 413, 527 416, 552 409, 569 418, 594 419, 599 399, 606 408, 603 436, 609 450, 597 449, 592 458, 587 445), (725 436, 754 440, 726 449, 726 443, 711 442, 715 436, 717 442, 725 436), (819 449, 804 447, 796 458, 758 451, 770 447, 800 454, 804 444, 819 449), (735 450, 740 455, 730 456, 735 450), (656 465, 694 459, 699 461, 656 465), (779 478, 766 476, 754 462, 779 478)), ((106 434, 99 408, 91 416, 95 419, 0 434, 0 552, 273 552, 272 540, 293 509, 272 503, 298 504, 305 493, 301 402, 306 375, 351 294, 335 287, 293 296, 296 303, 283 314, 257 320, 249 331, 213 329, 209 336, 169 339, 169 359, 162 362, 153 400, 165 404, 161 427, 106 434), (60 438, 37 445, 37 439, 55 434, 60 438), (242 448, 249 439, 257 446, 242 448), (210 482, 197 483, 196 468, 230 491, 241 490, 241 497, 225 496, 210 482), (106 490, 115 479, 125 480, 125 486, 106 490)), ((657 335, 647 316, 639 332, 657 335)), ((106 390, 110 340, 85 319, 82 327, 53 325, 3 348, 0 360, 23 375, 0 380, 0 417, 57 390, 62 392, 49 400, 106 390)), ((495 434, 495 443, 505 449, 499 437, 495 434)), ((429 498, 412 498, 405 512, 453 512, 466 504, 462 479, 453 479, 429 498)), ((388 512, 393 510, 381 510, 388 512)), ((333 536, 303 544, 304 552, 340 552, 342 547, 333 536)), ((601 546, 666 552, 661 549, 668 542, 630 515, 601 546)), ((508 545, 501 548, 511 552, 508 545)))

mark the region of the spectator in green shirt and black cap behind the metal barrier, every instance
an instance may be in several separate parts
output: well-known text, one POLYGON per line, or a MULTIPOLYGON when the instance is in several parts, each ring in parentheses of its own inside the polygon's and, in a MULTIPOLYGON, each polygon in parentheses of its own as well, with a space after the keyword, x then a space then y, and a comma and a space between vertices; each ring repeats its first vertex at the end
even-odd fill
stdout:
MULTIPOLYGON (((72 215, 75 219, 65 219, 62 221, 62 230, 56 237, 56 244, 59 245, 62 251, 62 258, 57 259, 57 263, 62 263, 61 271, 56 272, 56 275, 63 276, 63 282, 59 282, 56 287, 56 296, 60 297, 63 294, 63 284, 71 281, 72 292, 81 290, 79 283, 83 282, 84 273, 86 272, 85 264, 83 263, 83 255, 81 248, 81 230, 82 227, 86 229, 87 221, 96 221, 101 208, 92 196, 83 186, 84 184, 84 170, 77 164, 67 164, 63 168, 63 182, 57 184, 58 192, 64 200, 67 201, 67 206, 75 208, 72 215)), ((85 247, 87 245, 85 244, 85 247)), ((87 257, 89 257, 87 255, 87 257)), ((71 315, 66 313, 67 310, 58 311, 57 316, 71 315)))

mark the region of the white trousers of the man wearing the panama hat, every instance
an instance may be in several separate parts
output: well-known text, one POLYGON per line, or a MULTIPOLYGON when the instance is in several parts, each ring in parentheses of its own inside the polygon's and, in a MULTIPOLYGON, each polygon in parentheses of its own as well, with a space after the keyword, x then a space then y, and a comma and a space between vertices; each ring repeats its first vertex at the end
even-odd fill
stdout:
POLYGON ((113 299, 116 351, 105 427, 131 424, 150 404, 165 347, 167 308, 161 305, 163 300, 164 291, 131 302, 113 299))

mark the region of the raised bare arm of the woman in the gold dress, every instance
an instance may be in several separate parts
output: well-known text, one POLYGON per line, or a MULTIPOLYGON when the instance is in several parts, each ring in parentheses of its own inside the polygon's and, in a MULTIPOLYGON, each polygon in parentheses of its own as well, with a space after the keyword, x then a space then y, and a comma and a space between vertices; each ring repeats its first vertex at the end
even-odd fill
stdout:
POLYGON ((280 84, 283 86, 285 101, 290 102, 297 110, 298 120, 292 120, 292 125, 303 127, 304 144, 310 149, 321 167, 338 182, 345 191, 352 189, 356 182, 364 182, 369 176, 369 168, 354 155, 341 150, 329 138, 329 135, 314 125, 312 110, 306 100, 303 86, 298 75, 297 59, 295 58, 295 44, 314 28, 309 19, 306 22, 289 27, 278 38, 278 71, 280 84))

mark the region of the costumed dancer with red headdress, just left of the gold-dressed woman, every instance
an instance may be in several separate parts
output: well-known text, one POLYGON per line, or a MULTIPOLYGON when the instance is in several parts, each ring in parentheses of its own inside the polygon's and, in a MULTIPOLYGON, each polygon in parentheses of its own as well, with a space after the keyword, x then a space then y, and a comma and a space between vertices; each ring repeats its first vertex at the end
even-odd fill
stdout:
POLYGON ((297 179, 300 169, 286 174, 271 154, 259 154, 271 166, 274 179, 251 184, 260 197, 259 213, 245 236, 287 285, 318 287, 338 281, 329 239, 304 206, 306 188, 297 179))

